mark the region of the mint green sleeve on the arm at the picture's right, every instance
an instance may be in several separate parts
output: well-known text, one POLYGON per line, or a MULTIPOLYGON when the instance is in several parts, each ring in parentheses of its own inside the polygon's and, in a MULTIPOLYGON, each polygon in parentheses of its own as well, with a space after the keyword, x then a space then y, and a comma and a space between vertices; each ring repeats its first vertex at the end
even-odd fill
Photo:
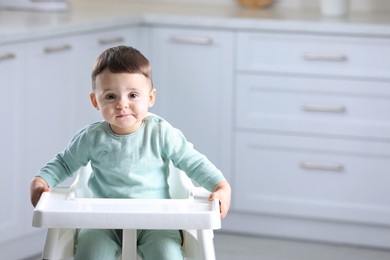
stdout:
POLYGON ((163 154, 197 184, 213 191, 215 185, 225 180, 222 172, 205 155, 194 149, 180 130, 167 124, 163 128, 162 137, 163 154))

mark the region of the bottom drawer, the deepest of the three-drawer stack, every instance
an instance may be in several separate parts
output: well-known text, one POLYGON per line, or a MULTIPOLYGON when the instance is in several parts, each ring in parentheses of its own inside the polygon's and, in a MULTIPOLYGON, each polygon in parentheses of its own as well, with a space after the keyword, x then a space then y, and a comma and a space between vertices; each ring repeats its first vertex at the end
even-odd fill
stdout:
POLYGON ((235 209, 390 224, 390 144, 238 133, 235 209))

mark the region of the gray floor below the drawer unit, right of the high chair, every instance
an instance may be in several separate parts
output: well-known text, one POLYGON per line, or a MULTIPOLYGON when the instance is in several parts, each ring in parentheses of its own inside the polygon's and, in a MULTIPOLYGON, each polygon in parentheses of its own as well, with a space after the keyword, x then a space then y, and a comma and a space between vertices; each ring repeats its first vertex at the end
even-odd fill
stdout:
POLYGON ((390 260, 390 250, 216 233, 218 260, 390 260))

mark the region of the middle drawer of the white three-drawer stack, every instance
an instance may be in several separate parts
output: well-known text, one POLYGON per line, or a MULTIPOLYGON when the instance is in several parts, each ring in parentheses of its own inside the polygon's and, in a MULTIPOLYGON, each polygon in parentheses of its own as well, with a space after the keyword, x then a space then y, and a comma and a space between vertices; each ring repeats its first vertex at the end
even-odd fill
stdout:
POLYGON ((236 124, 357 138, 390 138, 390 82, 239 75, 236 124))

